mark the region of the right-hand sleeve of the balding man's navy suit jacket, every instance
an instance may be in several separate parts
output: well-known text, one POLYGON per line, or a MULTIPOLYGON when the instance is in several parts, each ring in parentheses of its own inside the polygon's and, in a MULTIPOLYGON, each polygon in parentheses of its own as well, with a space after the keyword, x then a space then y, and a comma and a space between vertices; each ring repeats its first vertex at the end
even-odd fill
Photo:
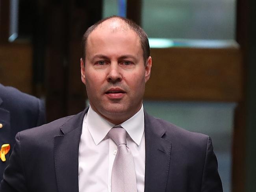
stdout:
POLYGON ((210 137, 208 137, 206 147, 201 192, 223 192, 221 178, 218 172, 217 158, 213 152, 213 145, 210 137))

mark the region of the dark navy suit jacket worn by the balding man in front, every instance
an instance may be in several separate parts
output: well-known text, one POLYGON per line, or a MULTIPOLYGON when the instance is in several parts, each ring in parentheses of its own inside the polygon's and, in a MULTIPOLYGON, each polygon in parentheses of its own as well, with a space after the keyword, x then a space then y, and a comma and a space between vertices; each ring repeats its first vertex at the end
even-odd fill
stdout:
MULTIPOLYGON (((87 109, 21 131, 0 192, 78 192, 87 109)), ((145 192, 222 192, 211 138, 145 114, 145 192)))

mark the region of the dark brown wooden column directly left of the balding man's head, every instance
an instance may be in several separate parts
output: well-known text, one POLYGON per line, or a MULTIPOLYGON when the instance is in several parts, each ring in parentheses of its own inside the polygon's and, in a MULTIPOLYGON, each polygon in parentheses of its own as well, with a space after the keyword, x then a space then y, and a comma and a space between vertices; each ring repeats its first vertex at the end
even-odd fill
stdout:
POLYGON ((102 18, 102 0, 70 1, 67 70, 67 114, 76 114, 85 108, 86 90, 81 81, 80 58, 83 33, 102 18))

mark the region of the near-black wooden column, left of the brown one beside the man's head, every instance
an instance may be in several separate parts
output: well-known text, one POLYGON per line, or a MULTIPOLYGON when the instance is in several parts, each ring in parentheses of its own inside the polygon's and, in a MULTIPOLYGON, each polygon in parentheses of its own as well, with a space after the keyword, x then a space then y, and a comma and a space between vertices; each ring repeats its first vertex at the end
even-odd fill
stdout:
POLYGON ((67 1, 49 1, 46 29, 45 94, 47 120, 67 114, 67 1))

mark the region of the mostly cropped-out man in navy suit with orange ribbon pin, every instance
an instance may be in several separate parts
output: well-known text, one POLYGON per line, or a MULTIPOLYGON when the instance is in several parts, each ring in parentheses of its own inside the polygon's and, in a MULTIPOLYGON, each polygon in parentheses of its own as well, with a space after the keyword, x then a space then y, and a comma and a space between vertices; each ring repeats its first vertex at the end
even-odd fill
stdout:
POLYGON ((17 132, 45 123, 45 108, 38 98, 0 84, 0 179, 9 162, 17 132))

